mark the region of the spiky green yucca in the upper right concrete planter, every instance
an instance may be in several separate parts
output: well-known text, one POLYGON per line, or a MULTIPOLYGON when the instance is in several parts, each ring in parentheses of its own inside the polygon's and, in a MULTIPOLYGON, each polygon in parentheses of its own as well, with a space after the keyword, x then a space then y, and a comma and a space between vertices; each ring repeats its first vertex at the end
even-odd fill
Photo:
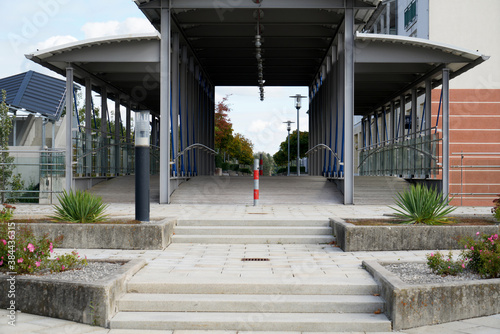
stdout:
POLYGON ((390 207, 405 224, 441 225, 448 222, 446 215, 456 208, 448 206, 451 199, 443 199, 434 188, 420 184, 412 185, 409 190, 399 193, 396 205, 390 207))

